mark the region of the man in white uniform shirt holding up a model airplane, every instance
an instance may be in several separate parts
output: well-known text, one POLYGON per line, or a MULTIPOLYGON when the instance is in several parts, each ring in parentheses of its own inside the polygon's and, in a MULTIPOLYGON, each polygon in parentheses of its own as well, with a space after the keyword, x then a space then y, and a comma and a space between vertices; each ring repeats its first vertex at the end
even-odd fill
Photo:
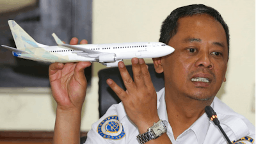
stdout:
MULTIPOLYGON (((107 80, 122 102, 92 125, 86 143, 138 143, 136 136, 148 144, 227 143, 205 115, 204 108, 210 105, 231 141, 253 143, 255 127, 215 97, 226 81, 229 51, 228 27, 220 14, 202 4, 177 8, 164 20, 160 42, 175 48, 172 54, 153 59, 156 72, 164 72, 165 88, 156 93, 143 60, 132 59, 134 81, 124 63, 118 63, 127 90, 107 80), (159 120, 164 123, 154 125, 159 120), (144 135, 152 125, 161 129, 156 130, 161 136, 150 140, 144 135)), ((70 42, 76 43, 76 38, 70 42)), ((86 93, 83 70, 89 65, 54 63, 49 67, 52 95, 58 104, 54 143, 79 143, 86 93)))

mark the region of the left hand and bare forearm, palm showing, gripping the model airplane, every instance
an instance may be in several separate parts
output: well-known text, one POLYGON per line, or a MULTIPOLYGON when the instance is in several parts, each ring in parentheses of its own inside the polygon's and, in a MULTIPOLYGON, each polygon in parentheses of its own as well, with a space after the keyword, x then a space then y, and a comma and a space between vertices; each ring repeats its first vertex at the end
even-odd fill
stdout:
MULTIPOLYGON (((70 44, 77 43, 77 38, 70 40, 70 44)), ((82 40, 80 44, 87 44, 87 41, 82 40)), ((52 96, 57 102, 53 143, 79 143, 81 109, 87 88, 84 68, 90 65, 86 61, 52 63, 49 67, 52 96)))

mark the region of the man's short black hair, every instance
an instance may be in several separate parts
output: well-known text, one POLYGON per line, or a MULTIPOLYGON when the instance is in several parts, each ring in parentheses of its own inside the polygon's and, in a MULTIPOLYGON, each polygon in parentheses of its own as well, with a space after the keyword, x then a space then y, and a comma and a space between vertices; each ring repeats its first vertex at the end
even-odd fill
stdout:
POLYGON ((168 17, 164 20, 162 27, 161 27, 161 34, 159 38, 159 42, 163 42, 164 44, 168 44, 172 36, 176 35, 178 31, 178 20, 182 17, 191 17, 193 15, 198 14, 207 14, 213 17, 215 20, 218 20, 220 24, 223 26, 226 38, 227 38, 227 44, 228 44, 228 55, 229 55, 229 32, 228 32, 228 26, 225 23, 225 21, 222 19, 220 13, 215 10, 214 8, 211 8, 210 6, 205 6, 204 4, 192 4, 188 6, 182 6, 180 8, 177 8, 173 10, 173 12, 168 15, 168 17))

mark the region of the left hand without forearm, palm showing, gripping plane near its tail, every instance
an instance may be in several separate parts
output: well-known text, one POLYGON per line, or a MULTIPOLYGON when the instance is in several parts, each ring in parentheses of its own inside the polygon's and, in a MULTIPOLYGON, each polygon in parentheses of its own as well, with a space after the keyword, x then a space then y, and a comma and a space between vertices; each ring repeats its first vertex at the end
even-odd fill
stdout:
MULTIPOLYGON (((70 44, 77 43, 77 38, 70 40, 70 44)), ((87 41, 82 40, 80 44, 87 44, 87 41)), ((90 62, 52 63, 50 65, 51 90, 58 108, 63 110, 82 108, 87 88, 84 68, 90 65, 90 62)))

